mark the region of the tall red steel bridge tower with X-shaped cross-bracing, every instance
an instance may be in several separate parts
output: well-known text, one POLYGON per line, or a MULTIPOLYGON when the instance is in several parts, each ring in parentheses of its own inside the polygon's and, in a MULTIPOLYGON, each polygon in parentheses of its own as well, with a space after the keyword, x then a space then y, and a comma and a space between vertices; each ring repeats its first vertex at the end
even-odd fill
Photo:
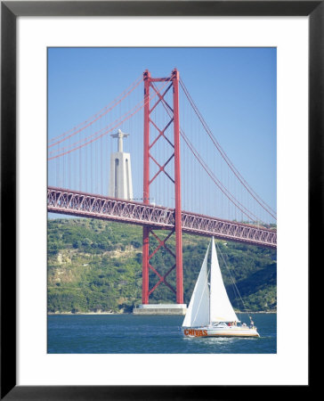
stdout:
MULTIPOLYGON (((179 72, 174 69, 172 71, 171 77, 167 78, 151 78, 149 70, 143 73, 144 80, 144 151, 143 151, 143 202, 146 204, 150 203, 150 184, 158 178, 159 173, 163 172, 168 176, 168 178, 174 183, 174 200, 175 200, 175 213, 174 213, 174 229, 166 236, 162 241, 158 234, 153 232, 153 228, 150 226, 143 227, 143 244, 142 244, 142 307, 149 304, 150 294, 155 291, 161 283, 167 285, 171 291, 174 291, 176 295, 176 304, 174 307, 178 307, 180 314, 184 313, 185 305, 183 305, 183 289, 182 289, 182 210, 181 210, 181 175, 180 175, 180 121, 179 121, 179 72), (165 82, 166 89, 162 93, 159 93, 155 82, 165 82), (169 82, 169 83, 168 83, 169 82), (166 102, 166 93, 172 89, 173 90, 173 107, 166 102), (151 98, 155 97, 157 100, 154 104, 150 105, 150 96, 154 94, 151 98), (158 96, 157 96, 158 95, 158 96), (162 102, 166 113, 168 115, 168 122, 166 127, 159 128, 157 124, 153 121, 153 116, 151 112, 157 107, 158 103, 162 102), (173 143, 169 139, 166 139, 165 132, 168 127, 173 124, 174 135, 173 143), (153 125, 158 130, 158 137, 150 143, 150 126, 153 125), (167 142, 169 142, 173 149, 173 155, 166 160, 164 165, 158 165, 158 173, 155 176, 150 177, 150 160, 154 160, 151 155, 150 150, 157 143, 158 138, 165 137, 167 142), (174 159, 174 177, 169 176, 166 173, 166 165, 170 160, 174 159), (166 241, 170 236, 175 233, 175 255, 167 245, 166 241), (150 253, 150 235, 153 235, 158 240, 158 248, 150 253), (174 256, 175 263, 174 266, 168 270, 164 276, 158 273, 154 266, 150 265, 150 259, 160 250, 165 248, 168 253, 174 256), (176 275, 176 289, 171 286, 166 278, 167 275, 171 273, 175 268, 176 275), (149 285, 149 272, 152 270, 158 275, 158 282, 156 285, 150 289, 149 285)), ((154 160, 156 164, 157 161, 154 160)), ((151 306, 153 307, 153 305, 151 306)), ((170 307, 170 306, 168 306, 170 307)), ((148 307, 150 308, 150 307, 148 307)), ((174 312, 171 312, 174 313, 174 312)), ((176 313, 176 312, 175 312, 176 313)))

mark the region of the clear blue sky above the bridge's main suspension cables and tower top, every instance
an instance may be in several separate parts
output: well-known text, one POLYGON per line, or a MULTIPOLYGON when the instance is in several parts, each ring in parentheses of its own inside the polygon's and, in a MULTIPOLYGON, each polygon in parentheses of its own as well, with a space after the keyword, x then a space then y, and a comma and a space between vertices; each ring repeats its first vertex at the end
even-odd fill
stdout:
POLYGON ((50 48, 48 135, 92 116, 150 70, 177 68, 223 150, 276 209, 275 48, 50 48))

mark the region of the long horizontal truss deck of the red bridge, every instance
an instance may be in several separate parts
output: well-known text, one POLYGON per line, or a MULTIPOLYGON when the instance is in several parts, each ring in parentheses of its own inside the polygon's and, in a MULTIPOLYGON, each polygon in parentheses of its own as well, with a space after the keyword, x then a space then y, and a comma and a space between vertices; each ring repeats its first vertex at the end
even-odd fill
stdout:
MULTIPOLYGON (((118 200, 93 193, 48 187, 47 210, 77 217, 92 217, 156 229, 174 228, 174 209, 118 200)), ((277 232, 215 217, 182 211, 182 232, 277 248, 277 232)))

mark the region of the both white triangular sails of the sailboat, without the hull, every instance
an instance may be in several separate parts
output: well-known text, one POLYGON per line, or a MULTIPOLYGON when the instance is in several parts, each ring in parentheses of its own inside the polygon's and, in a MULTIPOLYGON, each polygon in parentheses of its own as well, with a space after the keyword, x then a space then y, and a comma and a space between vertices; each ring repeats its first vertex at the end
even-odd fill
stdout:
POLYGON ((211 243, 212 257, 210 283, 208 284, 209 274, 207 270, 207 259, 209 253, 208 245, 205 259, 201 266, 198 280, 190 299, 187 314, 182 323, 182 326, 184 327, 206 326, 213 322, 239 322, 223 284, 223 277, 218 264, 214 237, 212 238, 211 243))

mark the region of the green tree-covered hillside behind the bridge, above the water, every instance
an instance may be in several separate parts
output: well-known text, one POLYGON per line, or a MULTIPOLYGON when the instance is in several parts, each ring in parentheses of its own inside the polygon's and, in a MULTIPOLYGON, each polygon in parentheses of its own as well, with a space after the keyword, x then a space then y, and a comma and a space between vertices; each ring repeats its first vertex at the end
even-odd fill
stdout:
MULTIPOLYGON (((142 303, 142 227, 96 219, 48 220, 48 312, 131 312, 142 303)), ((163 239, 169 232, 157 232, 163 239)), ((183 291, 188 305, 209 239, 184 234, 183 291)), ((275 311, 277 307, 276 251, 217 241, 223 280, 238 310, 275 311), (231 277, 239 289, 236 291, 231 277), (241 300, 241 299, 242 300, 241 300)), ((172 238, 166 242, 174 252, 172 238)), ((158 246, 150 238, 150 252, 158 246)), ((162 275, 174 257, 159 250, 150 263, 162 275)), ((175 269, 167 275, 175 288, 175 269)), ((150 288, 158 276, 150 272, 150 288)), ((174 303, 174 292, 161 284, 151 303, 174 303)))

